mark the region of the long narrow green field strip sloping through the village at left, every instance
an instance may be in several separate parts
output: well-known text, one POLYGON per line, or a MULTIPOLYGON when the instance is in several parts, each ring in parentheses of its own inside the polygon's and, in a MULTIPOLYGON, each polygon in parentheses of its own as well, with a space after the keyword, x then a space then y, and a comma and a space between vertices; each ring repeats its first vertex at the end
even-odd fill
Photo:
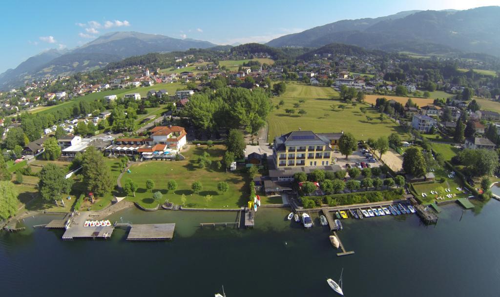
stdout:
POLYGON ((48 111, 56 111, 61 108, 65 108, 66 106, 71 106, 73 103, 78 103, 80 101, 87 101, 91 102, 95 99, 100 99, 104 96, 107 95, 120 95, 120 94, 128 94, 128 93, 139 93, 140 96, 146 96, 147 92, 151 89, 154 90, 159 90, 159 89, 165 89, 168 94, 173 94, 175 91, 179 88, 182 88, 182 84, 180 82, 174 82, 174 83, 158 83, 149 87, 138 87, 138 88, 133 88, 133 89, 116 89, 116 90, 107 90, 107 91, 102 91, 98 93, 91 93, 85 96, 77 97, 73 100, 69 100, 66 102, 63 102, 61 104, 57 105, 51 105, 51 106, 44 106, 41 108, 34 109, 30 111, 30 113, 40 113, 44 114, 47 113, 48 111))

